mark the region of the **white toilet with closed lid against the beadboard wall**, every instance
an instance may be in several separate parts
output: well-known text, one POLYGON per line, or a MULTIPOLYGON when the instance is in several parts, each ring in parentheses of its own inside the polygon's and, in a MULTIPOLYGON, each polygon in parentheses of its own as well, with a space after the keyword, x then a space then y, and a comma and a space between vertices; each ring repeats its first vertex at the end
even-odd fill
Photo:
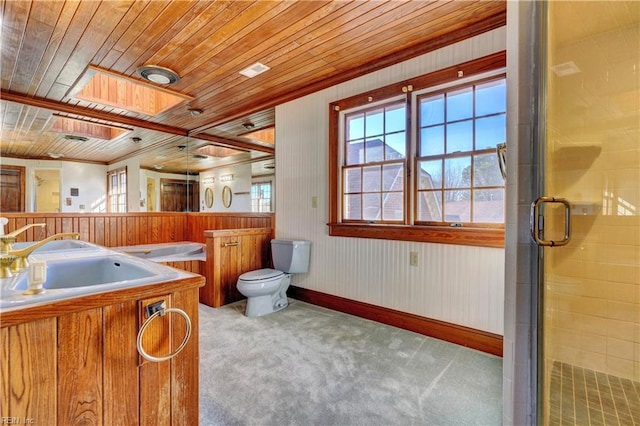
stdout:
POLYGON ((245 315, 259 317, 287 307, 291 274, 309 270, 311 241, 271 240, 275 269, 245 272, 238 278, 238 291, 247 298, 245 315))

